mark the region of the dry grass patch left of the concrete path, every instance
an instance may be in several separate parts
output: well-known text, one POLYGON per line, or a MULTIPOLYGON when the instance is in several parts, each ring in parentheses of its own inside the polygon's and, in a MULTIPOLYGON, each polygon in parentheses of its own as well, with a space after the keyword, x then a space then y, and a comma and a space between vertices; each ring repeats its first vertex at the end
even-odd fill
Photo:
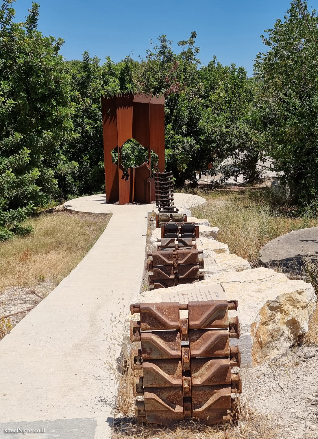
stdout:
POLYGON ((29 219, 32 234, 0 243, 0 291, 46 280, 56 286, 86 255, 109 219, 67 212, 29 219))

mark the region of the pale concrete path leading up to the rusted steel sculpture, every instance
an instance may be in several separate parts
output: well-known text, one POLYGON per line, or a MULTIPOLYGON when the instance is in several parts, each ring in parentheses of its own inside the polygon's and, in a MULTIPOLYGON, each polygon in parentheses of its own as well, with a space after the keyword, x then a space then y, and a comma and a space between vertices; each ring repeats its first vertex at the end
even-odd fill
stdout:
MULTIPOLYGON (((205 202, 180 195, 179 207, 205 202)), ((83 198, 83 212, 92 212, 92 202, 93 212, 106 213, 103 195, 83 198)), ((77 203, 79 198, 68 202, 74 210, 77 203)), ((104 365, 111 360, 106 334, 116 331, 111 317, 140 290, 147 212, 153 207, 117 205, 79 265, 0 341, 1 439, 110 437, 115 389, 104 365), (5 432, 20 427, 45 433, 5 432)))

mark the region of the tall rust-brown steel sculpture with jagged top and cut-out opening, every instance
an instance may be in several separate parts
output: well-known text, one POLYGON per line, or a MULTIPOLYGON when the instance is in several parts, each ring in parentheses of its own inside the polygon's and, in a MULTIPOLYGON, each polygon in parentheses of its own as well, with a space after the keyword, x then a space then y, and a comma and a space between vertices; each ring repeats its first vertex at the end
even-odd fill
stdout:
POLYGON ((164 96, 120 94, 101 97, 103 114, 106 202, 119 204, 146 203, 155 199, 151 177, 150 151, 158 156, 157 169, 164 171, 164 96), (135 139, 148 150, 148 162, 129 168, 121 164, 121 147, 135 139), (117 148, 118 164, 111 151, 117 148))

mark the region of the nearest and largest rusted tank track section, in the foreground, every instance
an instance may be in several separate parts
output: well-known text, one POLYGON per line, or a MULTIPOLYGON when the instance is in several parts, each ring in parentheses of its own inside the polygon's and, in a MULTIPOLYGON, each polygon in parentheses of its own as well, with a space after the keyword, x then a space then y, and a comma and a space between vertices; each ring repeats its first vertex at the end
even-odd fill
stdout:
POLYGON ((130 339, 141 349, 132 350, 135 374, 133 392, 136 417, 171 426, 197 418, 212 425, 229 421, 232 394, 240 393, 240 353, 230 345, 239 338, 236 301, 140 303, 130 306, 130 339), (188 318, 180 318, 180 309, 188 318))

